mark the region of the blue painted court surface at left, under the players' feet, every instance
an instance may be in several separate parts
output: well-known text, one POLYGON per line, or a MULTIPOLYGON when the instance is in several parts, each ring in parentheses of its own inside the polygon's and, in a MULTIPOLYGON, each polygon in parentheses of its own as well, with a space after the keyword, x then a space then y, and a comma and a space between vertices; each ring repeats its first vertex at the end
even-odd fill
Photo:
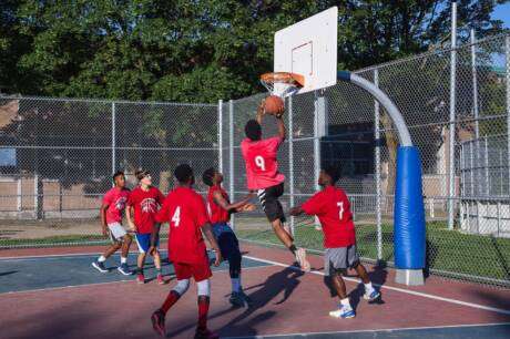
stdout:
MULTIPOLYGON (((114 255, 106 260, 105 266, 110 269, 110 273, 98 271, 91 266, 98 256, 98 254, 84 254, 0 259, 0 294, 135 279, 134 275, 124 276, 116 270, 120 265, 119 255, 114 255)), ((131 270, 136 268, 136 254, 130 254, 128 258, 128 265, 131 270)), ((213 258, 212 254, 210 256, 213 258)), ((173 265, 169 264, 166 253, 162 253, 162 257, 163 275, 172 276, 174 274, 173 265)), ((271 265, 245 258, 243 266, 262 267, 271 265)), ((211 267, 213 271, 227 270, 228 263, 223 261, 218 267, 211 267)), ((156 276, 151 257, 145 261, 144 275, 146 280, 154 279, 156 276)))

